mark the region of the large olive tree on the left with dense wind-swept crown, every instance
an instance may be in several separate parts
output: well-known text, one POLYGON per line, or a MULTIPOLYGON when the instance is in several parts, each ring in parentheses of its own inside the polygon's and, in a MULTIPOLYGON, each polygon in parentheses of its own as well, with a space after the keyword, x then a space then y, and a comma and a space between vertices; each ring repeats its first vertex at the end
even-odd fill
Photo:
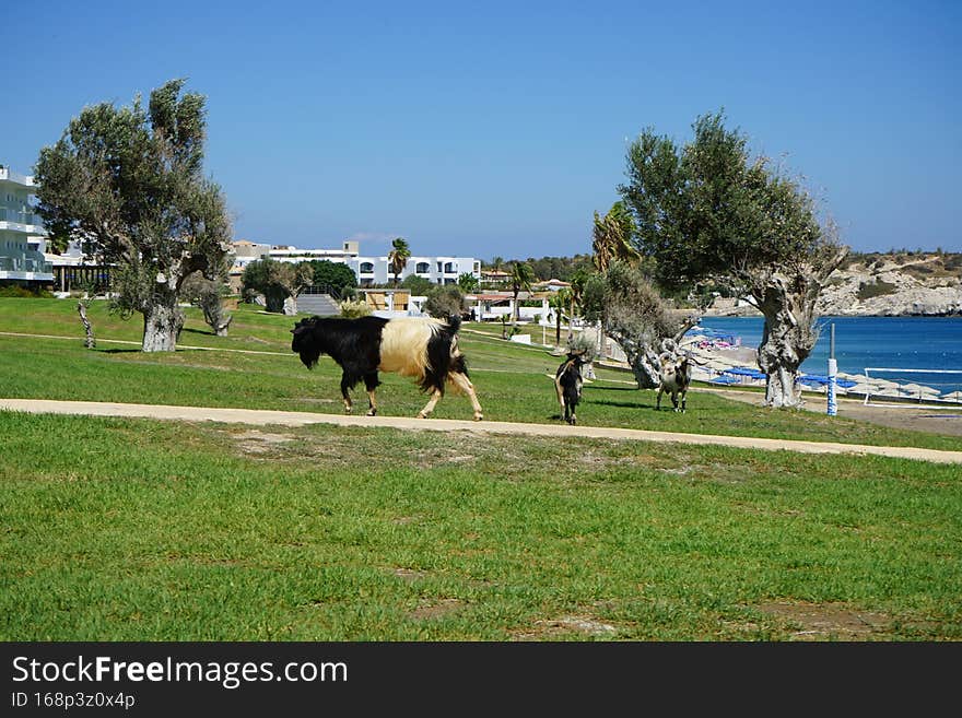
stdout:
POLYGON ((112 308, 143 316, 142 349, 174 351, 191 273, 216 279, 230 251, 221 189, 202 174, 204 97, 184 80, 127 107, 83 108, 40 151, 37 212, 54 238, 81 239, 112 272, 112 308))

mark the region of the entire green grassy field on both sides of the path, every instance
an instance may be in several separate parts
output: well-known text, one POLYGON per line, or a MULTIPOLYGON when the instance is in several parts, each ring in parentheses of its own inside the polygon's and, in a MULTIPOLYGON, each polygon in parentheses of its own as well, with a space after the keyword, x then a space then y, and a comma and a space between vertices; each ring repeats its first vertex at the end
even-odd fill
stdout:
MULTIPOLYGON (((219 351, 144 355, 139 321, 91 314, 95 351, 72 303, 0 301, 0 332, 70 337, 0 334, 0 396, 341 411, 290 318, 243 309, 216 338, 191 313, 181 345, 219 351)), ((486 419, 558 421, 558 358, 470 327, 464 348, 486 419)), ((958 448, 697 387, 655 412, 625 381, 600 372, 579 417, 958 448)), ((385 414, 424 401, 379 393, 385 414)), ((3 640, 962 639, 953 466, 15 412, 0 436, 3 640)))

